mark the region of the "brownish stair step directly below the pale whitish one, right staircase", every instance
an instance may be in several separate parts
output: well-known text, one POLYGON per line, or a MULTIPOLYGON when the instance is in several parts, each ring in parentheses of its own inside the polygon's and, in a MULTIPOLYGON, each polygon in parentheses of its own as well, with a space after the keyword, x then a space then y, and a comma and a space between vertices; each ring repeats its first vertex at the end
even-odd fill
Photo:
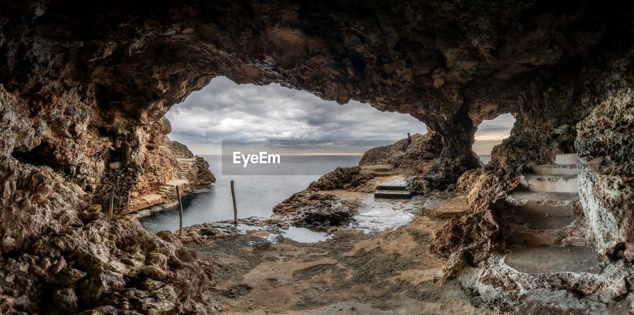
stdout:
POLYGON ((570 192, 530 192, 516 190, 507 196, 512 213, 524 216, 572 216, 579 194, 570 192))

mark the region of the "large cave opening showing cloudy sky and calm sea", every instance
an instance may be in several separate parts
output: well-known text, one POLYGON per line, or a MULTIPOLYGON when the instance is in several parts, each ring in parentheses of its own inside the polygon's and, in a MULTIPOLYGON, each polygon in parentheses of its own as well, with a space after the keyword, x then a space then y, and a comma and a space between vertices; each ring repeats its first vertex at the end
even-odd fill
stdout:
MULTIPOLYGON (((209 163, 216 180, 210 192, 184 199, 186 225, 233 218, 230 211, 209 210, 231 209, 231 180, 235 180, 240 204, 238 216, 266 218, 273 214, 276 205, 322 175, 339 167, 358 166, 368 149, 407 139, 408 133, 415 139, 427 133, 425 123, 410 114, 380 111, 358 101, 340 105, 277 83, 238 84, 226 77, 216 77, 203 89, 191 93, 172 106, 165 118, 170 125, 169 140, 157 140, 157 147, 172 146, 174 150, 174 142, 186 145, 192 154, 209 163), (285 147, 288 156, 283 155, 282 164, 290 164, 279 173, 227 173, 223 140, 226 144, 259 139, 299 144, 285 147), (330 141, 337 144, 321 147, 330 141), (310 145, 309 150, 305 145, 310 145), (300 159, 303 164, 299 164, 300 159)), ((141 223, 150 232, 165 230, 172 227, 169 224, 176 215, 176 211, 156 214, 141 223)))

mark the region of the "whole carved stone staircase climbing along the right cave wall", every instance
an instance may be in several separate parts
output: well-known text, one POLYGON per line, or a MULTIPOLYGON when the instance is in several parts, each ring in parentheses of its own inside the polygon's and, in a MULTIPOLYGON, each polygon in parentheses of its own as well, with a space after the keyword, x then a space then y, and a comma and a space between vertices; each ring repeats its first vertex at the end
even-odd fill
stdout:
POLYGON ((507 197, 510 240, 518 247, 504 262, 522 273, 596 272, 597 261, 585 238, 567 237, 578 219, 576 154, 557 154, 555 163, 533 166, 518 188, 507 197))

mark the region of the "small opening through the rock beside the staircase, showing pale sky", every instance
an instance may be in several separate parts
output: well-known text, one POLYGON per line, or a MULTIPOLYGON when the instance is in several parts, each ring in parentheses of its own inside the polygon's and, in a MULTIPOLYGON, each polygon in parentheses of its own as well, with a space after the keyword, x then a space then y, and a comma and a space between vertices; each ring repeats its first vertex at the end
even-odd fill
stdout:
POLYGON ((514 123, 515 117, 512 114, 501 114, 478 125, 472 149, 482 163, 488 164, 491 161, 493 147, 508 138, 514 123))

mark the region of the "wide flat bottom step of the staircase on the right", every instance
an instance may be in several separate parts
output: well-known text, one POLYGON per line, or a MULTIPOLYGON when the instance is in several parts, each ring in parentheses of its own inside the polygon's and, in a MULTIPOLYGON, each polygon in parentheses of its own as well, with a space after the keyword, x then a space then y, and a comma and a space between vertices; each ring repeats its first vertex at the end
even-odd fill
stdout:
POLYGON ((504 258, 504 263, 522 273, 593 273, 601 271, 595 252, 583 246, 519 245, 504 258))

